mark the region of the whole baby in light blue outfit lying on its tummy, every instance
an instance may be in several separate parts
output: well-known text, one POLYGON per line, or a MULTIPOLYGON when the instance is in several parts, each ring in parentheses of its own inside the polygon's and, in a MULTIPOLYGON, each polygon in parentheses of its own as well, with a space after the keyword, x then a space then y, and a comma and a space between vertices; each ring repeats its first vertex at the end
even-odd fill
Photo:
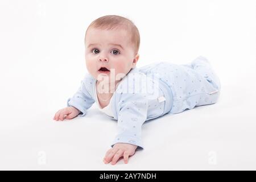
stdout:
POLYGON ((142 150, 141 127, 149 119, 214 104, 220 80, 209 61, 200 56, 190 64, 166 62, 136 67, 140 36, 131 20, 117 15, 94 20, 85 34, 86 73, 79 90, 57 111, 56 121, 83 117, 97 103, 117 120, 118 134, 104 163, 128 162, 142 150))

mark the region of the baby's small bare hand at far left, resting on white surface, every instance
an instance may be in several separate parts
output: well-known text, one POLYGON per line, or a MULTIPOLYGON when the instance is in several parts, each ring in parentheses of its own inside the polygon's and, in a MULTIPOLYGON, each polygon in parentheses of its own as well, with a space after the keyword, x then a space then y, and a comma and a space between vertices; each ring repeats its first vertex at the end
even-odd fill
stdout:
POLYGON ((59 121, 59 119, 61 121, 63 121, 63 119, 72 119, 79 115, 79 113, 81 113, 80 110, 76 109, 73 106, 69 106, 57 111, 53 119, 55 119, 56 121, 59 121))

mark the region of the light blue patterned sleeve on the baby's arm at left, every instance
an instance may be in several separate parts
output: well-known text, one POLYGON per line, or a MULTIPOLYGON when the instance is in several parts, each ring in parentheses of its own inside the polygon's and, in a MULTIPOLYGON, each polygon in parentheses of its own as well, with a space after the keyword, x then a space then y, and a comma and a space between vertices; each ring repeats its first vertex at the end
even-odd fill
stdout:
POLYGON ((95 102, 92 96, 90 96, 88 89, 86 89, 86 76, 81 81, 80 88, 73 95, 73 97, 68 98, 67 106, 76 107, 76 109, 80 110, 81 113, 78 115, 80 117, 84 117, 86 115, 86 111, 93 105, 95 102))

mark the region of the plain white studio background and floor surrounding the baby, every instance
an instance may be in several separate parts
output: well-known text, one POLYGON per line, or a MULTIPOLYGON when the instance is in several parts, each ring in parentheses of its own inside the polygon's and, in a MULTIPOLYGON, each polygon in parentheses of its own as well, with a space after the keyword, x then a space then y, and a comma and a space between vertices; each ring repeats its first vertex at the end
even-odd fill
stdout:
POLYGON ((256 169, 256 1, 0 1, 0 169, 256 169), (121 15, 141 34, 137 67, 205 56, 220 77, 217 104, 142 127, 144 150, 102 159, 117 122, 94 104, 53 121, 86 71, 94 19, 121 15))

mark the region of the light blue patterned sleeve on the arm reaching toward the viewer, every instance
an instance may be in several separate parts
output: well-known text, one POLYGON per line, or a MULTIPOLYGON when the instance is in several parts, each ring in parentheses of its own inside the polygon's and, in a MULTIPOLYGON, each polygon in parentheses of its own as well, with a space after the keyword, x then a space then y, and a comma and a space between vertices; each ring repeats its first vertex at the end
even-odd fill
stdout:
POLYGON ((125 94, 119 101, 118 134, 115 143, 130 143, 143 150, 141 127, 147 118, 148 100, 146 94, 125 94))

